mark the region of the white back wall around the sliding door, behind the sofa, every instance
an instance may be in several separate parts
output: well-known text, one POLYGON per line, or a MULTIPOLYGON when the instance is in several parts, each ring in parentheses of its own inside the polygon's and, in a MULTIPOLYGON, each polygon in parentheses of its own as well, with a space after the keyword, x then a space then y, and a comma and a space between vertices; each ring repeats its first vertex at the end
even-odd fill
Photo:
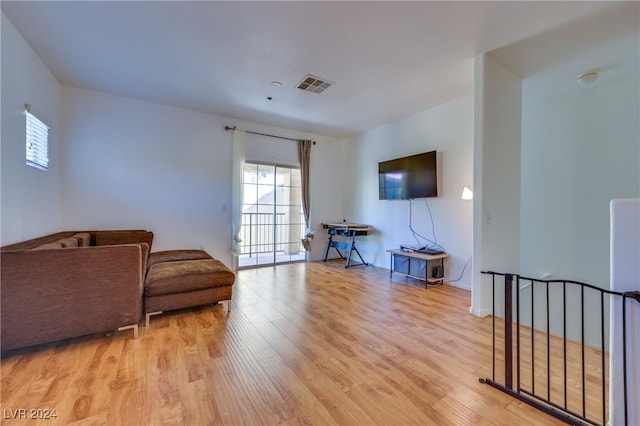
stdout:
MULTIPOLYGON (((317 140, 314 216, 328 220, 342 212, 326 189, 341 174, 324 175, 321 166, 339 157, 338 140, 73 87, 63 88, 62 109, 63 228, 149 229, 154 250, 204 245, 231 264, 232 133, 224 126, 234 124, 317 140)), ((314 241, 312 259, 321 244, 314 241)))

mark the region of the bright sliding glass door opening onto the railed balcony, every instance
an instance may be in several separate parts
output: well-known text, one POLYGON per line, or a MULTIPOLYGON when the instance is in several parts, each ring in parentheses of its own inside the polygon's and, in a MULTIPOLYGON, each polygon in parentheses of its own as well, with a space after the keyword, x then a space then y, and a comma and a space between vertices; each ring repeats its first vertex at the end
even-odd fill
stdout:
POLYGON ((246 163, 238 266, 305 260, 304 228, 300 169, 246 163))

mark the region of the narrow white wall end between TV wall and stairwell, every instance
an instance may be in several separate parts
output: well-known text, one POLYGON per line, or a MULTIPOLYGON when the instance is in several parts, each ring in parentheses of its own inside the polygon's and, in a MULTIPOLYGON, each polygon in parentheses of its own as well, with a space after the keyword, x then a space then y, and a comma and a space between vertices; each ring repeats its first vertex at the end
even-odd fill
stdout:
POLYGON ((476 59, 474 249, 471 311, 491 313, 481 271, 516 273, 520 264, 521 82, 489 55, 476 59))

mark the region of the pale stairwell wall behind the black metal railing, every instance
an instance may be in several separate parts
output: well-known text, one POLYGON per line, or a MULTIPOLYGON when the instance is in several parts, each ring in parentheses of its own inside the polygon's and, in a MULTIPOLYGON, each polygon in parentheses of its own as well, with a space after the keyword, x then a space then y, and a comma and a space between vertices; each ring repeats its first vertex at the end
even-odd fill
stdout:
MULTIPOLYGON (((523 80, 520 274, 609 288, 609 203, 640 197, 638 52, 636 33, 523 80), (589 68, 601 70, 598 80, 576 84, 574 76, 589 68)), ((580 300, 577 289, 568 298, 580 300)), ((542 309, 542 291, 536 299, 542 309)), ((608 333, 602 342, 597 332, 599 295, 587 292, 584 305, 587 343, 606 346, 608 333)), ((567 333, 577 339, 580 305, 570 303, 567 311, 567 333)), ((546 327, 544 312, 536 315, 537 326, 546 327)), ((562 334, 559 318, 550 325, 562 334)))

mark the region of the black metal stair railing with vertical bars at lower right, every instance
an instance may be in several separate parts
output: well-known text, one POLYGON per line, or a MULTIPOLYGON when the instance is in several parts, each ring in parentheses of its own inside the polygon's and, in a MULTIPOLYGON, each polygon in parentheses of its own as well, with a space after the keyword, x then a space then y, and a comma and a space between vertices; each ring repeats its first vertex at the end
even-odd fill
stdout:
POLYGON ((627 392, 626 305, 628 300, 640 303, 640 292, 620 293, 569 280, 482 273, 491 276, 493 361, 492 377, 480 381, 569 424, 607 423, 612 380, 607 374, 607 310, 621 304, 623 418, 628 424, 631 401, 627 392), (497 287, 504 287, 500 298, 497 287), (523 290, 528 288, 525 297, 523 290), (569 296, 574 296, 575 303, 567 303, 569 296), (502 329, 498 328, 500 321, 504 322, 502 329), (500 342, 502 349, 498 347, 500 342), (500 358, 503 365, 497 365, 500 358), (501 368, 502 382, 496 378, 501 368), (593 407, 594 401, 600 406, 593 407))

